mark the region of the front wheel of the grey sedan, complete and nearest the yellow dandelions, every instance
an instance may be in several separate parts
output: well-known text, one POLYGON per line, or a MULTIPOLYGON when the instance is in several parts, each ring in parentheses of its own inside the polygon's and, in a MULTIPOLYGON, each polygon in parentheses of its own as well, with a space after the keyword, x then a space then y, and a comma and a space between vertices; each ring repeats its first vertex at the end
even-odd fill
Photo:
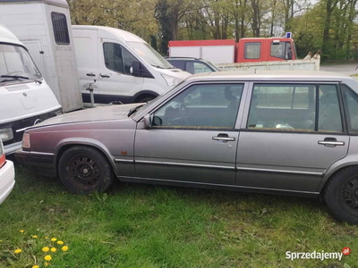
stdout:
POLYGON ((104 192, 113 184, 115 173, 97 149, 75 146, 64 151, 58 163, 64 187, 75 194, 104 192))

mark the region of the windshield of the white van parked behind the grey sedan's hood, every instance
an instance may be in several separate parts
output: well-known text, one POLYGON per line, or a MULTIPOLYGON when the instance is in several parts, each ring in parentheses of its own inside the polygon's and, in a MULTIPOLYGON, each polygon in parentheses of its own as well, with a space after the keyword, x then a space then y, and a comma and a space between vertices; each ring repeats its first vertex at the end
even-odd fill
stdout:
POLYGON ((143 59, 152 66, 156 66, 162 69, 172 69, 172 64, 166 62, 166 59, 163 58, 158 52, 151 46, 146 43, 141 42, 128 42, 129 46, 140 54, 143 59))

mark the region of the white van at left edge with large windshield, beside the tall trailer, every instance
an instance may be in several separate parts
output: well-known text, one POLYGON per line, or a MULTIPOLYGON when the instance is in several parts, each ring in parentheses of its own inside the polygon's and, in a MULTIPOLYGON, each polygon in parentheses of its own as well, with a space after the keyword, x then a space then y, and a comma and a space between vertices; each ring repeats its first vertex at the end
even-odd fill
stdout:
POLYGON ((21 148, 23 131, 61 113, 61 105, 25 46, 0 24, 0 138, 5 154, 21 148))

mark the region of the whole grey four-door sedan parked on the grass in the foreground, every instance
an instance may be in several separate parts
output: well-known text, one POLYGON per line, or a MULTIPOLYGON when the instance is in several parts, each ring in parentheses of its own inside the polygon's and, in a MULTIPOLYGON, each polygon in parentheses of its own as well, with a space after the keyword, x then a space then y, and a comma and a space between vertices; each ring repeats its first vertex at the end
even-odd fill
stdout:
POLYGON ((26 130, 18 161, 74 193, 122 181, 324 197, 358 224, 358 81, 325 72, 198 74, 144 104, 26 130))

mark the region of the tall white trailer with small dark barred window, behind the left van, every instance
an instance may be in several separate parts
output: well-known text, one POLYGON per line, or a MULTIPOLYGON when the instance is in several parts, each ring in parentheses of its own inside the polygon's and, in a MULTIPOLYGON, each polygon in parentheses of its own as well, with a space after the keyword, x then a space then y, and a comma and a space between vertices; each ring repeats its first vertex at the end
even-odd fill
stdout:
POLYGON ((63 107, 81 109, 82 98, 65 0, 0 0, 0 23, 29 49, 63 107))

